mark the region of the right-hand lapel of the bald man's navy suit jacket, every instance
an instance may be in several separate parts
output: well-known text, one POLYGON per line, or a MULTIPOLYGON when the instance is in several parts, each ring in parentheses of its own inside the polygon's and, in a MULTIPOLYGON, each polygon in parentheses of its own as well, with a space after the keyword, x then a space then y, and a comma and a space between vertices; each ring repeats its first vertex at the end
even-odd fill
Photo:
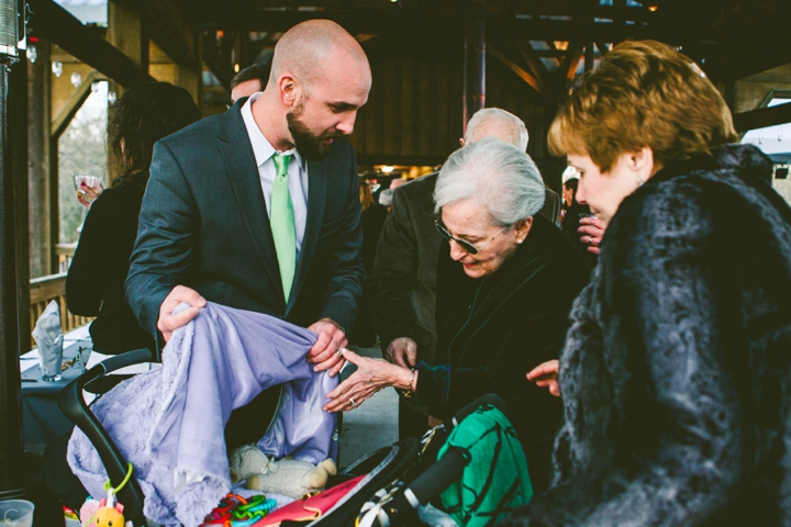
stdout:
POLYGON ((313 260, 319 237, 321 236, 324 206, 326 205, 326 165, 324 161, 308 161, 308 218, 305 221, 304 236, 302 237, 302 249, 300 250, 299 261, 297 261, 297 273, 291 287, 289 305, 286 310, 287 315, 293 307, 304 284, 310 262, 313 260))

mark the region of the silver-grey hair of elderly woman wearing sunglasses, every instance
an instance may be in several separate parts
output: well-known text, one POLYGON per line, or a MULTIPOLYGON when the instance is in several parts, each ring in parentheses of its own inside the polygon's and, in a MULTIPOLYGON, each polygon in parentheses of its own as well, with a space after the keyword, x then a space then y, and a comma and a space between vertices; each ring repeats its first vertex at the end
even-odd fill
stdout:
POLYGON ((515 146, 484 137, 450 154, 434 190, 435 212, 461 201, 482 206, 500 226, 514 225, 544 206, 538 168, 515 146))

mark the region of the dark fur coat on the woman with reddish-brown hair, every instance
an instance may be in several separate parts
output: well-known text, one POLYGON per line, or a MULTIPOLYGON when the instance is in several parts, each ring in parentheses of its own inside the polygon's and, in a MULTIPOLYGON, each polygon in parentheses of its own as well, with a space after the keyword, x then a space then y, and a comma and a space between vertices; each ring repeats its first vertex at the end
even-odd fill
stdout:
POLYGON ((555 483, 503 525, 791 524, 791 209, 728 145, 626 198, 560 358, 555 483))

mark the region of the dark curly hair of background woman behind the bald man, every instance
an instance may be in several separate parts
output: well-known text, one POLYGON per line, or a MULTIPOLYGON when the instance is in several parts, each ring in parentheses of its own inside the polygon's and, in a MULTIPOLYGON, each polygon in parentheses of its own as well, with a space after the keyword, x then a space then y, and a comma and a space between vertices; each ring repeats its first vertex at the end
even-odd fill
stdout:
POLYGON ((112 106, 108 126, 110 147, 121 161, 114 184, 148 179, 154 143, 200 119, 192 96, 168 82, 151 82, 126 90, 112 106))

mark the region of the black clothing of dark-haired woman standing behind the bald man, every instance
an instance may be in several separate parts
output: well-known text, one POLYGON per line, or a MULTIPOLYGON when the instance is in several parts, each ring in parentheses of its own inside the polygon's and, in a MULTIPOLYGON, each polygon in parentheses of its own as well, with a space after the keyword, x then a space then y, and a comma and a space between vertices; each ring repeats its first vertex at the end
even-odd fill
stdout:
POLYGON ((102 354, 154 349, 154 338, 140 325, 124 295, 143 192, 143 184, 130 181, 97 198, 66 278, 68 309, 97 317, 89 330, 93 349, 102 354))

